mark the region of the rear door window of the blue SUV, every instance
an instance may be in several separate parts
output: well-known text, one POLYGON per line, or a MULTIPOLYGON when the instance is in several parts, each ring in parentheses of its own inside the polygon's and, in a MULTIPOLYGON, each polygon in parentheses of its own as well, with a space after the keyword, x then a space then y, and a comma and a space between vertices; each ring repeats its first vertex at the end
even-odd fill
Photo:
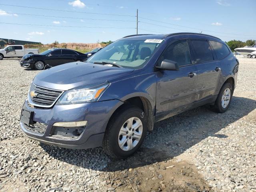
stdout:
POLYGON ((212 50, 207 40, 196 39, 190 41, 194 48, 195 63, 202 63, 213 60, 212 50))

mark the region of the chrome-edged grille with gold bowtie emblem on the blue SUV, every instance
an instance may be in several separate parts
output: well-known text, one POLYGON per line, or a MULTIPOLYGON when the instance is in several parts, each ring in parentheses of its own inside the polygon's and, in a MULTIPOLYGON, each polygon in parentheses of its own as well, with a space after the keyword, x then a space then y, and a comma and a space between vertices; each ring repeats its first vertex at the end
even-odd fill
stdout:
POLYGON ((63 91, 31 85, 28 97, 35 106, 51 107, 63 91))

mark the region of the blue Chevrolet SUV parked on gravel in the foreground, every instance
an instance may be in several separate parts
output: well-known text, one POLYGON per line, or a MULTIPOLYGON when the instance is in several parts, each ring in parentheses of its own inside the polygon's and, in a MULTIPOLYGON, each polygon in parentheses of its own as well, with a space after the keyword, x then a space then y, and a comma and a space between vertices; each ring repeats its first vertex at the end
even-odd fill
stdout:
POLYGON ((116 158, 133 154, 154 123, 204 104, 228 110, 238 60, 214 36, 131 35, 86 62, 40 72, 24 102, 20 126, 34 140, 116 158))

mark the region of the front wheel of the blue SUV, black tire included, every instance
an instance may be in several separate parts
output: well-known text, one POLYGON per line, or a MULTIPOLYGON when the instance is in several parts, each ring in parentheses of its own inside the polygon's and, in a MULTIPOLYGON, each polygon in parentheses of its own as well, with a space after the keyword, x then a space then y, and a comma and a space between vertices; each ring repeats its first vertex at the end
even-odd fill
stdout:
POLYGON ((110 118, 102 147, 113 158, 126 158, 138 150, 146 132, 147 122, 143 110, 135 106, 124 106, 110 118), (128 128, 129 124, 136 130, 128 128))

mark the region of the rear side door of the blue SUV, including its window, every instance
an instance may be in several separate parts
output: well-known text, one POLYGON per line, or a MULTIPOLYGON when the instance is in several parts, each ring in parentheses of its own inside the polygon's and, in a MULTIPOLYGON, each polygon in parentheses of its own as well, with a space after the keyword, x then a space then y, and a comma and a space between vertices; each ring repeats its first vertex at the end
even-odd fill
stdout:
POLYGON ((198 71, 198 83, 196 87, 196 101, 212 98, 216 95, 220 80, 220 62, 214 60, 214 52, 208 40, 190 39, 192 56, 198 71))

